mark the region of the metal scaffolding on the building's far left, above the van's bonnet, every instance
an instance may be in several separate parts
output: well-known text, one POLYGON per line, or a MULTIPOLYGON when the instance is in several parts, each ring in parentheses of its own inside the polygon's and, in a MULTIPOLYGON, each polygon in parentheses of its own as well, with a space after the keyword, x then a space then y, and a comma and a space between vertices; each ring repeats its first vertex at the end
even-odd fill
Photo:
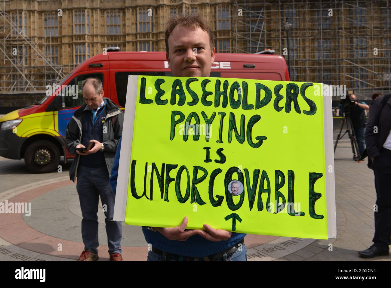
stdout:
MULTIPOLYGON (((47 84, 57 83, 65 77, 62 65, 53 63, 48 52, 50 49, 43 52, 39 48, 42 43, 39 43, 38 37, 27 36, 27 15, 24 10, 7 13, 3 0, 0 5, 0 23, 0 31, 2 30, 3 34, 0 45, 0 61, 2 60, 3 64, 0 72, 0 91, 45 90, 47 84)), ((45 35, 44 48, 51 44, 51 38, 49 40, 47 43, 45 35)))

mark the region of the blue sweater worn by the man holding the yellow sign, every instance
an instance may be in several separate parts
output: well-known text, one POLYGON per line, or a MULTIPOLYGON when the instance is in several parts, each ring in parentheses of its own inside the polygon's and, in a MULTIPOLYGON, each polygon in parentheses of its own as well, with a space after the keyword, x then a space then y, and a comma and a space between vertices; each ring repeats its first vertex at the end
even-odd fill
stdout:
MULTIPOLYGON (((121 142, 118 143, 117 152, 115 153, 113 169, 111 170, 110 185, 115 194, 117 189, 117 177, 118 177, 118 165, 120 162, 121 142)), ((143 233, 145 241, 151 244, 152 247, 159 250, 188 257, 203 257, 217 252, 226 250, 233 245, 237 244, 240 240, 246 236, 243 233, 232 233, 230 239, 219 242, 209 241, 202 236, 194 235, 188 238, 186 241, 169 240, 163 236, 160 232, 153 232, 143 227, 143 233)))

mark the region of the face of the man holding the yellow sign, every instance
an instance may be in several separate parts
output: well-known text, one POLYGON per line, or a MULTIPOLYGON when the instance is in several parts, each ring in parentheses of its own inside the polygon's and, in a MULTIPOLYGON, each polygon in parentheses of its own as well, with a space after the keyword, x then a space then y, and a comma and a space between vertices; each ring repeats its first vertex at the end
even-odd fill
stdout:
POLYGON ((200 27, 176 26, 169 38, 167 62, 177 77, 209 77, 215 61, 215 48, 210 49, 209 35, 200 27))

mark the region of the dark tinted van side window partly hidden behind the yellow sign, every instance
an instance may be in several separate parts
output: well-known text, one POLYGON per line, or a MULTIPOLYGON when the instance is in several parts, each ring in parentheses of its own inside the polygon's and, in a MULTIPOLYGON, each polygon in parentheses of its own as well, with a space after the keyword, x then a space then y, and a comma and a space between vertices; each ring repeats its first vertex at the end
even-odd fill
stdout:
MULTIPOLYGON (((172 76, 171 71, 167 72, 115 72, 115 88, 117 89, 118 103, 125 107, 127 78, 129 75, 146 75, 146 76, 172 76)), ((220 77, 220 72, 210 72, 210 77, 220 77)))

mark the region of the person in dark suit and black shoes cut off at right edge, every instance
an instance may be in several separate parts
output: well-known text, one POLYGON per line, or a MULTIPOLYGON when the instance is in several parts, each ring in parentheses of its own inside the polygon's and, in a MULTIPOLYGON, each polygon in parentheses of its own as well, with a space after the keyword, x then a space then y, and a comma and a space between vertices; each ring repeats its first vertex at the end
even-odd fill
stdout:
POLYGON ((389 255, 391 244, 391 95, 380 96, 371 107, 365 130, 368 162, 373 162, 375 174, 376 205, 375 236, 373 245, 359 251, 359 255, 371 258, 389 255))

